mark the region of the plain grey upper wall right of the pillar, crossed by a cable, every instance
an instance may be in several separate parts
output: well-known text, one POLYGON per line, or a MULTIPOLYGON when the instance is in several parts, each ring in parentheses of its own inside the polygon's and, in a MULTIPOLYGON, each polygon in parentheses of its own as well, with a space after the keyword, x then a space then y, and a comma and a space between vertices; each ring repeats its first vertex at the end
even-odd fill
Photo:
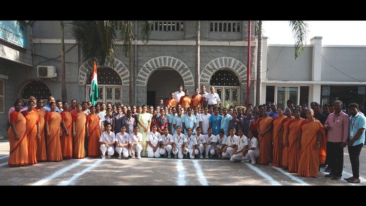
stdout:
POLYGON ((366 46, 324 46, 322 52, 325 58, 322 59, 322 81, 366 82, 366 46))

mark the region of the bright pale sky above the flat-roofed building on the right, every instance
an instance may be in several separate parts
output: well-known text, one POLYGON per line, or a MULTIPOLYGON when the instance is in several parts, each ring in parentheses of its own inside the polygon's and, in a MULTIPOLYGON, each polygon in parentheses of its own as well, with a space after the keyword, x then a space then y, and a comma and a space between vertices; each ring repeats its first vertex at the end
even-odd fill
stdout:
MULTIPOLYGON (((307 21, 306 44, 323 37, 323 45, 366 45, 366 21, 307 21)), ((288 21, 263 21, 263 36, 268 44, 294 44, 288 21)))

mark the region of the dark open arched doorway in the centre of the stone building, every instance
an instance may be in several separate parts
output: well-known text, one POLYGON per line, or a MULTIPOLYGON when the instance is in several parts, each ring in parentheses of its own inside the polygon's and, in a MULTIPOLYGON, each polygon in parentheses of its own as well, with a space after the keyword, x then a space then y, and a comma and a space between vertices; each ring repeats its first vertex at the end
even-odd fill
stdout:
POLYGON ((177 91, 179 84, 184 87, 183 78, 177 70, 166 68, 153 71, 147 81, 147 104, 159 105, 160 99, 165 103, 169 94, 177 91))

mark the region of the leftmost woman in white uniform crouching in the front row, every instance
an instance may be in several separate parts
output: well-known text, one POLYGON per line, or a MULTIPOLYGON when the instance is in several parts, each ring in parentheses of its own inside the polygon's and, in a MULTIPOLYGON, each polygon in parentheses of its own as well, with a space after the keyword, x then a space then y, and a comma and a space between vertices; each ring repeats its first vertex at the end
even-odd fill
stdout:
POLYGON ((111 131, 112 125, 107 123, 105 126, 105 131, 102 133, 99 143, 101 144, 102 150, 102 160, 105 159, 105 153, 108 152, 108 158, 114 154, 114 142, 116 140, 116 135, 111 131))

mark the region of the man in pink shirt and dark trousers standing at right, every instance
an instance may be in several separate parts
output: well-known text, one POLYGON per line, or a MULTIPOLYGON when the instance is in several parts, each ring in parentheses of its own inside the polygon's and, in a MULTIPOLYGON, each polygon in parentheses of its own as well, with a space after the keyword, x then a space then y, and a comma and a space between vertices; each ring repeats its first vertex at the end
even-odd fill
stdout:
POLYGON ((333 103, 334 113, 328 115, 324 128, 326 135, 326 156, 331 168, 331 172, 325 177, 332 180, 339 180, 343 171, 343 148, 346 147, 349 129, 349 117, 342 112, 343 103, 335 101, 333 103))

